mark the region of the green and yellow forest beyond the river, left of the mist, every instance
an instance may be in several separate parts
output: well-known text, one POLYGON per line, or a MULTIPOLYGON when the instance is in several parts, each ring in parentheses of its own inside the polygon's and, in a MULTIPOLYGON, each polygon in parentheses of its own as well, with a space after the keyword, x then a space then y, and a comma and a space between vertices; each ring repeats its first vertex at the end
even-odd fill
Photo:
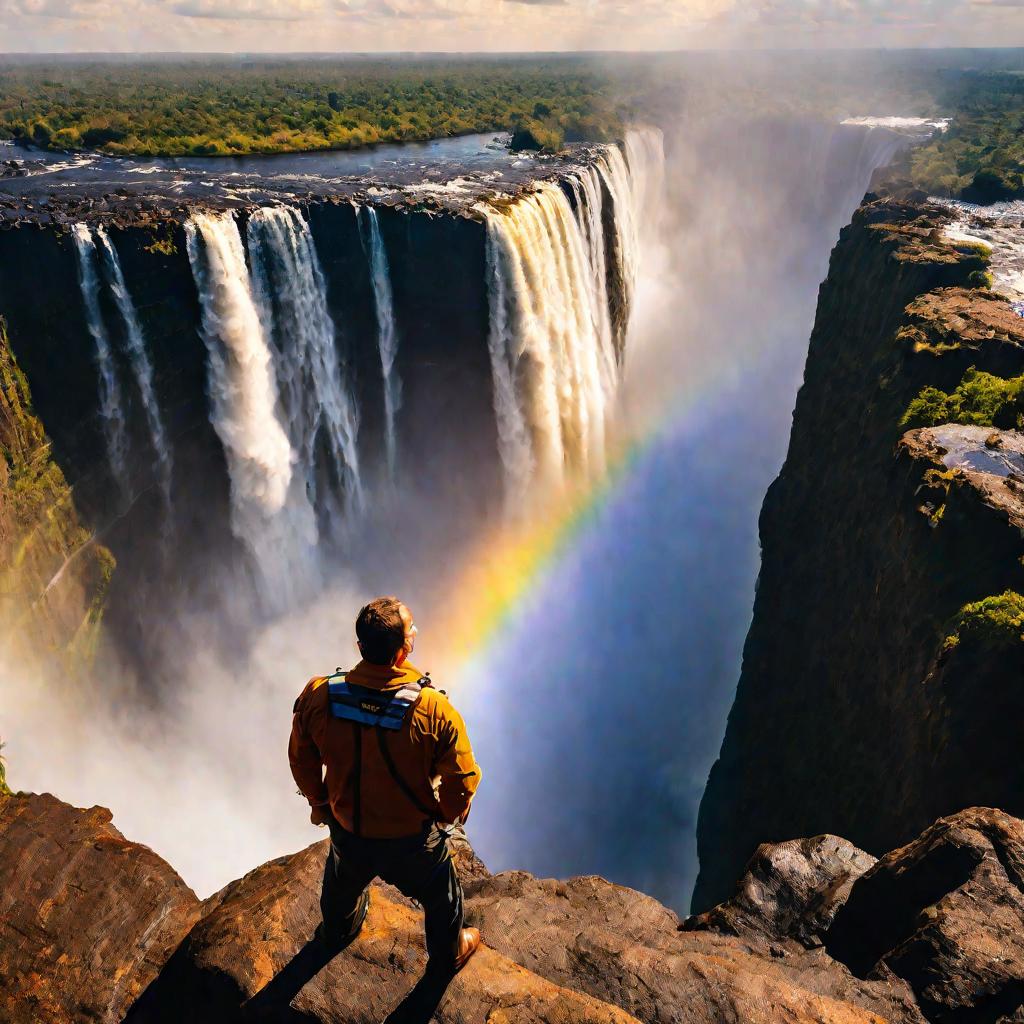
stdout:
POLYGON ((574 59, 13 65, 0 71, 0 134, 150 157, 486 131, 519 131, 523 147, 557 150, 621 129, 608 94, 609 83, 574 59))

